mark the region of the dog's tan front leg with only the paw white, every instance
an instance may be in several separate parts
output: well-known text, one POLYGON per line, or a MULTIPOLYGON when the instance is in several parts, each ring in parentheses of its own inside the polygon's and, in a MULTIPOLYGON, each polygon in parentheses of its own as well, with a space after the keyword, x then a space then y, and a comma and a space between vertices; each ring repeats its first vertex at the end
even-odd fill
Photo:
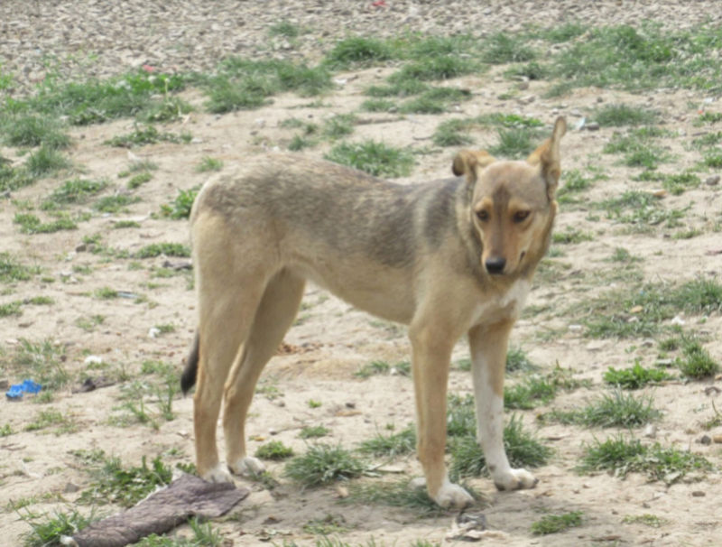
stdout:
POLYGON ((446 392, 454 339, 448 330, 412 326, 413 386, 416 395, 417 454, 421 461, 426 489, 442 507, 465 507, 474 500, 464 488, 449 481, 446 448, 446 392), (446 336, 445 336, 446 335, 446 336))

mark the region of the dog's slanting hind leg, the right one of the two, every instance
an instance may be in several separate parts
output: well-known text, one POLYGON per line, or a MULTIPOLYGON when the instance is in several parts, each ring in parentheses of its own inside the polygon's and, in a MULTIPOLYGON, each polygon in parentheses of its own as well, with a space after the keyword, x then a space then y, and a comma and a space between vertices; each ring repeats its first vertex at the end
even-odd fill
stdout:
POLYGON ((287 270, 273 276, 255 312, 243 355, 236 360, 228 375, 223 430, 226 435, 226 461, 234 473, 257 474, 264 470, 258 459, 245 454, 245 417, 261 371, 273 357, 296 316, 304 284, 303 278, 287 270))

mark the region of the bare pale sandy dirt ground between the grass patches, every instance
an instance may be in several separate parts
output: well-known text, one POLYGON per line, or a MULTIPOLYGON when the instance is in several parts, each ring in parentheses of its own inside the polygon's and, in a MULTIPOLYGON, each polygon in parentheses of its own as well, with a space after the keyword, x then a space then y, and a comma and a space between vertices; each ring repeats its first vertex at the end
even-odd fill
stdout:
MULTIPOLYGON (((31 187, 14 191, 12 200, 0 200, 0 249, 19 257, 23 264, 42 268, 42 274, 32 280, 14 283, 12 289, 0 295, 0 303, 37 296, 54 301, 51 306, 23 306, 21 316, 0 319, 0 363, 10 363, 23 339, 52 340, 65 348, 63 366, 74 377, 85 372, 138 378, 147 360, 169 362, 180 372, 195 329, 194 292, 185 275, 159 278, 153 273, 166 261, 182 263, 187 259, 107 258, 83 245, 84 237, 101 234, 105 246, 130 254, 153 243, 187 244, 187 223, 162 218, 158 213, 162 204, 176 197, 178 190, 194 188, 207 178, 207 174, 196 170, 203 158, 222 160, 223 169, 230 171, 250 155, 285 149, 294 132, 281 126, 283 120, 295 117, 320 123, 335 114, 356 111, 366 98, 363 89, 381 83, 391 71, 374 68, 338 74, 335 77, 338 88, 323 97, 320 105, 308 98, 281 95, 273 97, 273 103, 266 107, 224 116, 205 114, 204 97, 197 91, 185 92, 182 97, 194 104, 197 111, 182 122, 165 126, 164 130, 189 132, 193 135, 190 144, 153 144, 129 153, 104 143, 131 130, 132 120, 71 129, 74 144, 69 157, 84 177, 106 179, 111 181, 111 186, 122 189, 125 181, 118 179, 118 173, 136 158, 151 160, 159 168, 153 172, 152 181, 134 190, 134 195, 140 198, 138 202, 118 214, 93 212, 88 221, 79 223, 77 230, 28 236, 21 234, 13 222, 17 202, 39 203, 67 176, 38 181, 31 187), (140 227, 113 229, 120 220, 134 220, 140 227), (142 265, 135 267, 134 262, 142 265), (99 300, 94 297, 106 287, 143 298, 99 300), (96 328, 81 326, 82 320, 98 315, 105 319, 96 328), (159 325, 172 325, 173 329, 153 336, 151 329, 159 325), (88 363, 94 360, 105 365, 90 368, 88 363)), ((697 109, 690 105, 705 105, 709 111, 722 112, 717 97, 687 90, 659 90, 639 96, 594 88, 545 99, 542 94, 548 84, 532 81, 524 91, 523 100, 500 98, 515 85, 502 78, 502 71, 500 68, 481 76, 446 82, 445 85, 473 90, 472 99, 452 114, 361 114, 361 123, 356 125, 351 140, 371 138, 394 146, 424 149, 426 153, 414 156, 412 176, 398 180, 413 184, 449 176, 455 149, 440 149, 430 142, 431 134, 443 120, 501 112, 533 116, 551 126, 556 116, 566 116, 571 129, 562 142, 562 169, 584 171, 590 165, 600 166, 608 175, 606 181, 597 182, 584 193, 584 199, 592 202, 625 190, 653 187, 653 183, 632 180, 638 170, 619 165, 616 156, 601 153, 611 138, 612 129, 594 132, 575 129, 581 117, 592 108, 626 103, 660 112, 664 127, 679 134, 679 138, 665 140, 675 157, 674 162, 665 164, 665 172, 681 172, 699 160, 699 152, 689 146, 691 136, 699 132, 699 127, 692 125, 697 109)), ((495 134, 491 131, 480 134, 477 141, 480 147, 494 143, 495 134)), ((329 147, 329 143, 322 143, 302 153, 320 158, 329 147)), ((19 162, 21 158, 17 154, 17 149, 0 148, 0 155, 19 162)), ((605 274, 616 266, 606 259, 617 247, 624 247, 642 259, 639 267, 648 281, 718 278, 722 272, 722 240, 719 233, 709 227, 720 220, 720 188, 702 184, 681 196, 663 198, 664 207, 690 208, 684 222, 700 230, 699 235, 691 239, 672 238, 669 231, 662 229, 629 234, 603 214, 590 220, 588 209, 583 207, 560 209, 557 231, 574 227, 594 237, 564 246, 563 256, 555 259, 561 267, 538 277, 527 305, 543 311, 523 315, 514 329, 512 344, 523 348, 543 370, 551 370, 557 364, 571 367, 575 377, 591 380, 591 387, 559 394, 549 406, 518 413, 524 424, 554 449, 554 455, 548 465, 535 469, 540 483, 532 490, 499 493, 484 477, 472 481, 485 496, 479 510, 486 515, 489 528, 495 531, 482 540, 484 544, 559 547, 722 544, 722 480, 718 470, 722 466, 722 445, 699 442, 703 435, 722 435, 720 427, 705 431, 701 425, 714 415, 712 403, 722 409, 720 390, 708 389, 722 388, 719 376, 704 382, 673 381, 643 390, 653 395, 663 412, 657 423, 656 440, 664 446, 701 454, 717 466, 717 470, 701 480, 682 480, 668 487, 662 482, 648 482, 646 477, 636 474, 624 480, 606 474, 579 475, 574 468, 583 443, 606 438, 614 431, 558 424, 540 426, 535 420, 551 406, 571 408, 599 393, 603 389, 601 375, 609 366, 631 366, 635 358, 641 359, 644 365, 653 364, 658 352, 653 340, 585 338, 578 329, 579 318, 565 310, 570 302, 583 301, 609 288, 605 274), (555 334, 545 336, 549 332, 555 334), (532 522, 542 515, 570 511, 583 513, 584 522, 579 528, 550 536, 533 536, 530 532, 532 522), (645 514, 657 515, 665 519, 665 524, 649 527, 623 523, 626 516, 645 514)), ((113 190, 106 191, 112 193, 113 190)), ((89 206, 86 209, 91 210, 89 206)), ((79 206, 77 210, 85 209, 79 206)), ((696 332, 708 335, 705 348, 717 361, 722 360, 722 342, 718 338, 722 319, 718 315, 700 318, 683 313, 680 317, 696 332)), ((299 431, 309 425, 326 426, 330 435, 324 440, 353 448, 359 441, 383 431, 387 423, 395 424, 398 431, 413 421, 409 377, 375 375, 362 379, 355 375, 361 366, 375 360, 389 363, 408 360, 409 343, 404 329, 375 320, 314 286, 307 290, 297 323, 285 338, 288 350, 273 357, 261 379, 261 393, 255 396, 247 425, 252 436, 251 452, 267 440, 282 440, 302 453, 306 445, 299 439, 299 431), (310 401, 320 405, 311 405, 310 401)), ((454 357, 467 357, 463 340, 454 357)), ((23 375, 11 366, 0 366, 0 380, 14 384, 22 379, 23 375)), ((32 498, 28 508, 33 513, 51 513, 68 507, 88 509, 75 505, 89 477, 79 459, 73 456, 74 450, 105 450, 127 465, 138 465, 143 456, 152 459, 157 455, 171 464, 192 461, 191 398, 179 396, 174 400, 175 419, 159 420, 157 431, 143 423, 118 427, 112 424, 111 417, 121 413, 117 408, 123 386, 123 382, 118 382, 89 393, 73 393, 72 388, 79 387, 76 381, 56 394, 51 403, 44 404, 34 403, 32 398, 11 402, 3 397, 0 427, 8 424, 13 434, 0 437, 0 544, 19 545, 23 533, 29 530, 28 524, 12 510, 12 502, 32 498), (37 413, 48 408, 70 416, 76 431, 60 434, 53 433, 52 428, 24 431, 37 413), (79 491, 73 492, 76 488, 72 486, 79 487, 79 491)), ((471 393, 468 373, 454 370, 449 391, 471 393)), ((222 439, 220 431, 219 436, 222 439)), ((396 461, 394 466, 410 477, 421 471, 414 457, 396 461)), ((239 478, 238 483, 251 487, 252 494, 236 507, 231 518, 214 523, 228 544, 257 545, 272 541, 280 545, 285 541, 312 545, 317 538, 304 531, 304 525, 322 521, 329 515, 335 522, 343 523, 344 531, 338 533, 338 538, 354 545, 366 544, 372 539, 376 545, 410 545, 418 540, 462 544, 445 539, 455 516, 451 513, 419 518, 412 511, 384 505, 341 504, 336 488, 301 490, 282 476, 282 464, 270 464, 269 468, 281 485, 269 491, 258 483, 239 478)), ((181 529, 181 533, 185 532, 181 529)))

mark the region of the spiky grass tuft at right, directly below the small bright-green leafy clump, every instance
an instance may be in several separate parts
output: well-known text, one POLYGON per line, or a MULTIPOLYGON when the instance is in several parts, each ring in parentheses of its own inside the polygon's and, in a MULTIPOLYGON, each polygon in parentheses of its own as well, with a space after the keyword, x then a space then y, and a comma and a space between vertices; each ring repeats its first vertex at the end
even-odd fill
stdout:
POLYGON ((639 427, 661 416, 653 407, 651 395, 635 396, 615 389, 579 410, 554 411, 551 417, 561 423, 575 423, 587 427, 639 427))

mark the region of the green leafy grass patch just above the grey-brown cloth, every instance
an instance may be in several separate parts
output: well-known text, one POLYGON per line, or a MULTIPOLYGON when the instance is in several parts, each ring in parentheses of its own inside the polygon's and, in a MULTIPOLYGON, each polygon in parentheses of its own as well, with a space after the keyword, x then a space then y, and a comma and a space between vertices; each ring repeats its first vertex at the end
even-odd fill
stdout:
POLYGON ((119 458, 103 456, 101 465, 90 468, 93 482, 79 497, 85 504, 117 504, 131 507, 157 487, 171 484, 172 469, 160 456, 150 466, 143 456, 141 465, 125 468, 119 458))

